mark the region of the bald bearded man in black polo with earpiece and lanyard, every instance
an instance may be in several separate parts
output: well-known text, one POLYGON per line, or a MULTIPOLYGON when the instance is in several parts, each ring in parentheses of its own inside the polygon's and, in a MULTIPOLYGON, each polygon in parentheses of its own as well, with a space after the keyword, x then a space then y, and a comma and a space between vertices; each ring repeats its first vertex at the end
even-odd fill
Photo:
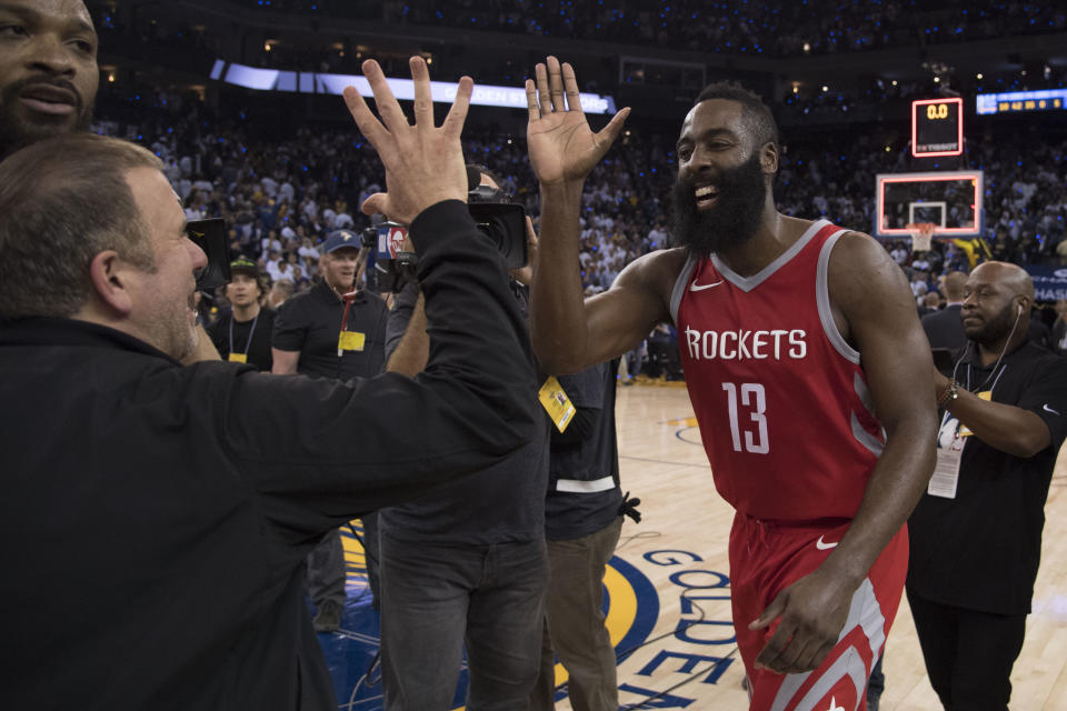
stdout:
POLYGON ((968 343, 951 378, 937 467, 908 521, 907 592, 946 709, 1005 711, 1041 552, 1044 507, 1067 435, 1067 361, 1029 342, 1034 282, 986 262, 967 278, 968 343))

